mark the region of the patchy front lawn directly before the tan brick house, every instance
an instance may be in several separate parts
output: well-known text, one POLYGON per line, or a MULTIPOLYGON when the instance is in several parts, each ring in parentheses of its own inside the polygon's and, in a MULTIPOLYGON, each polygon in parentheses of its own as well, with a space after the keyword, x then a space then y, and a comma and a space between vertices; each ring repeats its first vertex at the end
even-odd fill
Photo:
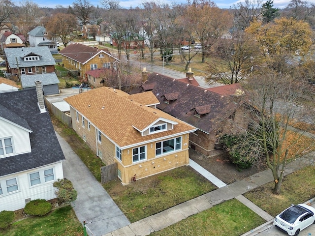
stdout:
POLYGON ((130 222, 217 188, 189 166, 139 179, 126 186, 122 186, 119 180, 112 180, 103 184, 103 187, 130 222))

